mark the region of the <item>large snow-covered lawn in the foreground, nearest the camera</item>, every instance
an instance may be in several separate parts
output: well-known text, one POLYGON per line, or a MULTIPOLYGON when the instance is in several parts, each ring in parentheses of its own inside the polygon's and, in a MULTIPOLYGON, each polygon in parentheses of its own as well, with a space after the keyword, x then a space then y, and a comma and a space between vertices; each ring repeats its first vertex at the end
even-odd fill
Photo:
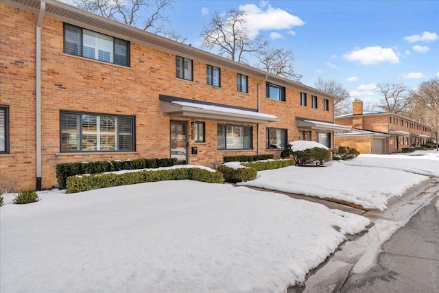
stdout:
POLYGON ((21 205, 5 196, 1 292, 283 292, 369 224, 190 180, 43 191, 21 205))

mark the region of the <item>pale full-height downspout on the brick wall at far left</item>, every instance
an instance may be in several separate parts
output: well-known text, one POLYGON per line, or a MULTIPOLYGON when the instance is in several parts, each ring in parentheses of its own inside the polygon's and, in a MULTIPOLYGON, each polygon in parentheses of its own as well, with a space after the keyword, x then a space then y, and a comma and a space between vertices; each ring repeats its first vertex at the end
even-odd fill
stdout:
POLYGON ((46 1, 41 0, 36 21, 36 190, 41 190, 41 25, 46 11, 46 1))

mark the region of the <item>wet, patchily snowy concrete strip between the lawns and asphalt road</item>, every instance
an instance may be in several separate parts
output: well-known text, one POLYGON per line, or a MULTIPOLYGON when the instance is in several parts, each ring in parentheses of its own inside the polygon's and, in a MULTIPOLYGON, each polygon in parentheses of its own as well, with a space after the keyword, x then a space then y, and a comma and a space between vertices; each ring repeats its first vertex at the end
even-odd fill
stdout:
MULTIPOLYGON (((366 274, 375 263, 384 242, 439 194, 438 182, 438 177, 430 178, 408 189, 403 196, 391 198, 388 209, 383 212, 357 210, 357 213, 369 218, 374 226, 370 227, 367 233, 348 237, 348 241, 342 244, 326 262, 309 272, 305 287, 288 288, 287 292, 339 292, 351 271, 357 275, 366 274)), ((436 202, 436 199, 432 202, 436 202)), ((353 211, 351 207, 332 202, 319 201, 319 203, 342 211, 353 211)), ((431 231, 431 233, 435 232, 431 231)))

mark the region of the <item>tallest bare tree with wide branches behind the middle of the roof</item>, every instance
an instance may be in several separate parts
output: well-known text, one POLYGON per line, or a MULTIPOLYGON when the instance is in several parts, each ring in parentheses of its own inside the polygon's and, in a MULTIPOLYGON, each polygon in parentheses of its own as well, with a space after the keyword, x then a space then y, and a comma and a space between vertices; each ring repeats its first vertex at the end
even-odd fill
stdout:
POLYGON ((235 9, 215 12, 200 33, 201 47, 219 48, 219 56, 247 64, 246 55, 261 51, 268 42, 260 36, 251 39, 246 27, 246 12, 235 9))

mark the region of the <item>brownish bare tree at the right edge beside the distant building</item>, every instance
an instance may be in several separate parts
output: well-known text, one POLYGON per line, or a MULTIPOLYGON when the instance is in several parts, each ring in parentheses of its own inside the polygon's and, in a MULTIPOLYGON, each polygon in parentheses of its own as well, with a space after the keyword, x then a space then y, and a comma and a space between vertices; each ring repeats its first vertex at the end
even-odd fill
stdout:
MULTIPOLYGON (((434 128, 436 143, 439 137, 439 79, 432 78, 427 82, 422 82, 418 89, 410 92, 410 97, 416 104, 425 109, 427 124, 434 128)), ((438 149, 436 149, 438 150, 438 149)))

